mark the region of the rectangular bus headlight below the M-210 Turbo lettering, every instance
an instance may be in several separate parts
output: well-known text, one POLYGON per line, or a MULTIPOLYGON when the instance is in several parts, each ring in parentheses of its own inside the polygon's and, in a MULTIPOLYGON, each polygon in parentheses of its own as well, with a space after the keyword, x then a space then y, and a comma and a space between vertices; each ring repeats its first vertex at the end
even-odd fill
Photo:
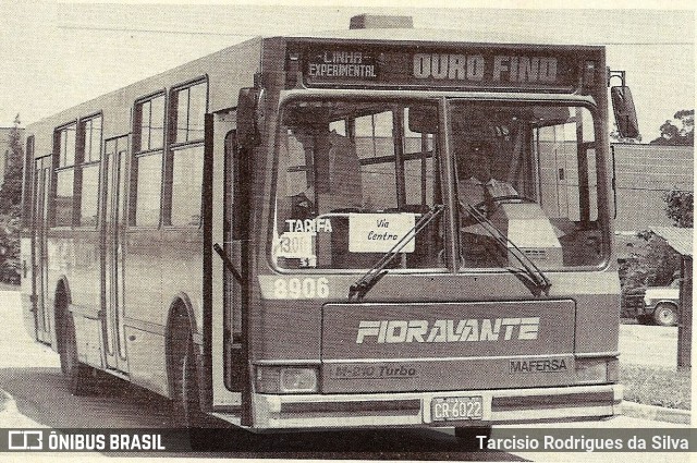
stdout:
POLYGON ((318 391, 317 368, 296 366, 258 366, 257 392, 310 393, 318 391))

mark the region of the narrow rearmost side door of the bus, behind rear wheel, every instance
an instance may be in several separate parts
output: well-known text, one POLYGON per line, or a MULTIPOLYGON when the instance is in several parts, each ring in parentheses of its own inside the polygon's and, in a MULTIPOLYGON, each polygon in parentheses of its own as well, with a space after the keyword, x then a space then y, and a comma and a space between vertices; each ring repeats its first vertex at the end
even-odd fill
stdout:
POLYGON ((33 245, 33 312, 36 326, 36 339, 50 342, 51 318, 48 295, 48 199, 51 179, 51 156, 36 159, 34 165, 34 223, 32 227, 33 245))

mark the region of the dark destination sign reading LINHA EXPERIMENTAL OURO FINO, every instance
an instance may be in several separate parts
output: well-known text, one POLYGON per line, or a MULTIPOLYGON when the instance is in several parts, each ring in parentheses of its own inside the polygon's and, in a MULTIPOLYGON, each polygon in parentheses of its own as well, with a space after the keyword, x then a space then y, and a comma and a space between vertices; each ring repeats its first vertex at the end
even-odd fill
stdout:
POLYGON ((307 86, 543 88, 577 85, 578 58, 560 50, 314 49, 305 54, 307 86))

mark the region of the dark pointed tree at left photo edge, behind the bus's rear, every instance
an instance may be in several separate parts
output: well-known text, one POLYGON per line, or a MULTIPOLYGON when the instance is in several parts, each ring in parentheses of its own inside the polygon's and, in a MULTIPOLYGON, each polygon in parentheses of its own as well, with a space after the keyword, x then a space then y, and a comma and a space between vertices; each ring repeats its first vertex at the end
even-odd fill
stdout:
POLYGON ((0 186, 0 281, 20 282, 20 216, 24 149, 20 115, 8 136, 4 180, 0 186))

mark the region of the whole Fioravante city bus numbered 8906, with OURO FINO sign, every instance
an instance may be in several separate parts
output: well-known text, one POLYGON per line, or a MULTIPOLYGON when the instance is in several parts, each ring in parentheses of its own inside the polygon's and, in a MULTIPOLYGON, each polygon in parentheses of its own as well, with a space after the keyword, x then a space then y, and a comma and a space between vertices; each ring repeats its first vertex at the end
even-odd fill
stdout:
POLYGON ((466 36, 356 16, 27 126, 24 320, 70 391, 118 377, 193 429, 619 414, 631 93, 601 46, 466 36))

